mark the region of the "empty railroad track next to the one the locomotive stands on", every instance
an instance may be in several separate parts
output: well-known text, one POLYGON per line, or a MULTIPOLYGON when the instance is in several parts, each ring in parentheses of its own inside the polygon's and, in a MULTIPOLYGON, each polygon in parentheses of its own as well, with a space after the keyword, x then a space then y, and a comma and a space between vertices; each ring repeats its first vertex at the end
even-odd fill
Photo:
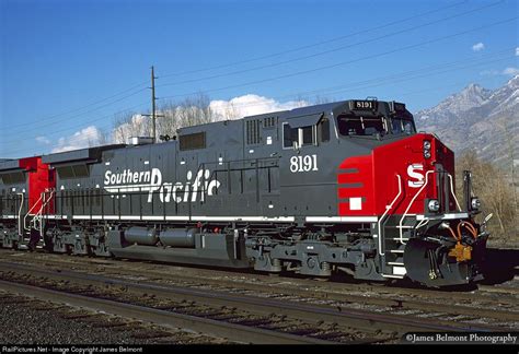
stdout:
MULTIPOLYGON (((31 261, 34 261, 33 259, 31 261)), ((106 274, 120 279, 150 281, 160 283, 174 283, 182 286, 201 287, 206 291, 222 291, 241 293, 244 295, 276 296, 285 299, 305 298, 310 300, 335 303, 343 308, 369 306, 373 310, 392 312, 413 312, 415 316, 439 314, 451 317, 452 320, 466 320, 487 318, 497 321, 508 321, 512 326, 519 323, 517 302, 519 293, 506 290, 504 296, 501 287, 486 286, 485 296, 481 292, 453 293, 445 291, 425 291, 420 288, 397 288, 388 286, 369 286, 366 284, 344 284, 333 282, 315 282, 303 279, 285 280, 257 274, 245 274, 228 271, 207 271, 192 269, 192 275, 180 272, 157 271, 153 268, 168 268, 175 270, 178 267, 125 262, 120 260, 97 260, 76 257, 60 257, 45 259, 45 264, 58 268, 80 268, 85 272, 106 274), (89 266, 90 264, 90 266, 89 266), (138 264, 135 267, 135 264, 138 264), (94 267, 94 269, 92 269, 94 267), (209 275, 208 275, 209 273, 209 275), (250 281, 252 278, 253 281, 250 281), (241 280, 241 281, 240 281, 241 280), (288 284, 282 284, 288 283, 288 284), (282 284, 282 285, 280 285, 282 284), (491 292, 492 291, 492 292, 491 292), (367 296, 371 295, 371 296, 367 296), (511 296, 510 296, 511 295, 511 296), (447 303, 446 303, 447 302, 447 303), (448 304, 448 305, 446 305, 448 304)), ((5 266, 9 269, 9 266, 5 266)), ((182 270, 182 269, 181 269, 182 270)))

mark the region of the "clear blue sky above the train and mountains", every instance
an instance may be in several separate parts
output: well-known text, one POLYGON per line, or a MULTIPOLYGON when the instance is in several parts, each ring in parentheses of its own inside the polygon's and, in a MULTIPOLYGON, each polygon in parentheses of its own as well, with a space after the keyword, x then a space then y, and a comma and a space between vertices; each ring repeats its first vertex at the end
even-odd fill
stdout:
POLYGON ((516 0, 0 0, 0 157, 147 113, 151 64, 159 104, 377 96, 416 111, 517 73, 518 15, 516 0))

